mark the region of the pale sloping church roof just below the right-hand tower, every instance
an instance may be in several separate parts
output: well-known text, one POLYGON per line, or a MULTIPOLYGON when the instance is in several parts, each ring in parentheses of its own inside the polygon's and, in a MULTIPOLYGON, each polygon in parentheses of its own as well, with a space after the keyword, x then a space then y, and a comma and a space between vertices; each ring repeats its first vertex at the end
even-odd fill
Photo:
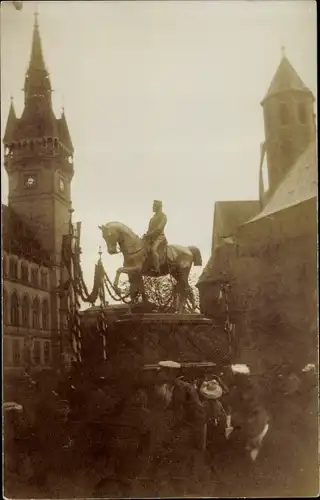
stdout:
POLYGON ((313 141, 283 178, 263 210, 246 224, 317 197, 317 144, 313 141))

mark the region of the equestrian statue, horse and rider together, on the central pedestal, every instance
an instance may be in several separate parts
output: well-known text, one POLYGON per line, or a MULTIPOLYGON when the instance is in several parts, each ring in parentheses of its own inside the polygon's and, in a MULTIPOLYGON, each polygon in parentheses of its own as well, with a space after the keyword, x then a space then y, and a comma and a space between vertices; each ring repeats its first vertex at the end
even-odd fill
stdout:
POLYGON ((176 281, 176 308, 178 312, 183 312, 188 298, 194 306, 194 298, 189 286, 189 274, 192 265, 202 266, 201 253, 195 246, 168 245, 164 234, 167 217, 162 211, 161 201, 153 202, 153 212, 148 231, 142 238, 121 222, 108 222, 98 226, 102 231, 109 254, 123 254, 123 267, 117 270, 113 285, 120 293, 120 276, 122 273, 127 274, 132 302, 137 302, 141 295, 144 304, 149 305, 143 276, 171 275, 176 281))

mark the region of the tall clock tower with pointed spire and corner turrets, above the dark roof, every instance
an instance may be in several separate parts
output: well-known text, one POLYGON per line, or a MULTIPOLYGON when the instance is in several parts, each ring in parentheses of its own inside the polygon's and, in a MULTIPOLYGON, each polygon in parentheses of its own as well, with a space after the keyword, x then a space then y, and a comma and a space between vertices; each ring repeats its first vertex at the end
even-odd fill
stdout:
POLYGON ((3 140, 9 206, 33 228, 58 264, 71 208, 74 150, 64 112, 56 118, 52 109, 37 14, 23 90, 22 115, 17 118, 11 100, 3 140))

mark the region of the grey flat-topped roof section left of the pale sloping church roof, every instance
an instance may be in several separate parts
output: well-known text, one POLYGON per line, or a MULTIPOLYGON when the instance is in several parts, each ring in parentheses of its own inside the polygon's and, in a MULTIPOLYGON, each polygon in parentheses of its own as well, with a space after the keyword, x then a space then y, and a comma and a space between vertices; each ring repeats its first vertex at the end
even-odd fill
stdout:
MULTIPOLYGON (((214 205, 213 235, 216 235, 218 240, 230 236, 237 227, 250 220, 259 210, 258 200, 217 201, 214 205)), ((212 241, 212 247, 216 244, 219 244, 219 241, 212 241)))

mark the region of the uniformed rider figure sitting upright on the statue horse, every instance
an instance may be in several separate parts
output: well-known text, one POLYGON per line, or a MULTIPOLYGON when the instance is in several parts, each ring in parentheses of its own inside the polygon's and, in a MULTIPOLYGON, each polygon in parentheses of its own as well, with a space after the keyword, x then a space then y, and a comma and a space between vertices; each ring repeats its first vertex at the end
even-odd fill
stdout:
POLYGON ((167 216, 162 211, 162 201, 154 200, 152 210, 154 215, 150 219, 148 231, 143 238, 149 244, 154 270, 157 273, 160 273, 160 257, 158 249, 162 243, 167 242, 164 235, 164 228, 167 224, 167 216))

